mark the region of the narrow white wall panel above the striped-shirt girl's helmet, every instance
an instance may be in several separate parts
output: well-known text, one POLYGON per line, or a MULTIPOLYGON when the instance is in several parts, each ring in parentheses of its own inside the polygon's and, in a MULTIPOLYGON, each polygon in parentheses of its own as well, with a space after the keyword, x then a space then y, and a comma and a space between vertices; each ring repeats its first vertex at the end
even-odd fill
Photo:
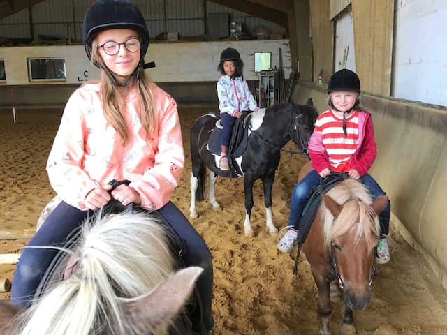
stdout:
POLYGON ((338 17, 335 21, 335 71, 344 68, 342 64, 345 47, 348 47, 346 68, 356 71, 356 52, 354 49, 354 29, 351 10, 338 17))

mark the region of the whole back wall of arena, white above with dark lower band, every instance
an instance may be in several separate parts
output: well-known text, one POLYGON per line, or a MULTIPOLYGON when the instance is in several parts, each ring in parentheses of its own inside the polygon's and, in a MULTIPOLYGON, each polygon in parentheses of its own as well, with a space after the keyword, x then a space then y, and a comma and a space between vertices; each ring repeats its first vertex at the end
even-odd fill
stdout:
MULTIPOLYGON (((228 42, 152 43, 146 61, 155 61, 156 68, 147 70, 154 82, 166 89, 179 103, 217 104, 216 82, 221 51, 235 47, 240 51, 244 78, 257 80, 254 73, 254 52, 272 52, 272 67, 279 67, 279 48, 286 77, 291 72, 288 40, 244 40, 228 42)), ((1 47, 5 60, 6 82, 0 83, 0 107, 9 107, 11 89, 17 106, 64 106, 68 96, 85 79, 98 77, 99 71, 88 61, 82 45, 36 47, 1 47), (29 82, 27 58, 65 57, 66 82, 29 82)))

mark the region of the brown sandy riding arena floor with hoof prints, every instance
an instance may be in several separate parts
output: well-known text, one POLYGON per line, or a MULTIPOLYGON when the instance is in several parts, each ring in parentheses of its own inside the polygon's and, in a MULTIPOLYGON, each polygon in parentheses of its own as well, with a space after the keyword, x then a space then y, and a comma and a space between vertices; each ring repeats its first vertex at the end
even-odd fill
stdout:
MULTIPOLYGON (((189 129, 200 114, 212 109, 180 108, 186 169, 173 202, 189 216, 189 129)), ((215 109, 214 109, 215 111, 215 109)), ((45 163, 61 110, 0 110, 0 229, 32 230, 45 203, 54 195, 45 163)), ((288 144, 292 146, 292 144, 288 144)), ((288 202, 305 158, 281 158, 273 187, 274 223, 286 224, 288 202)), ((254 190, 252 223, 255 237, 244 237, 242 179, 218 179, 217 200, 223 211, 198 203, 199 218, 192 223, 214 257, 215 334, 318 334, 316 288, 309 267, 292 274, 293 260, 280 254, 276 239, 265 229, 261 182, 254 190)), ((395 252, 380 268, 367 310, 355 313, 358 334, 447 334, 447 292, 423 257, 399 236, 395 252)), ((0 241, 0 253, 17 251, 26 240, 0 241)), ((1 265, 0 277, 12 278, 14 266, 1 265)), ((1 294, 7 298, 8 294, 1 294)), ((339 334, 340 307, 331 318, 332 334, 339 334)))

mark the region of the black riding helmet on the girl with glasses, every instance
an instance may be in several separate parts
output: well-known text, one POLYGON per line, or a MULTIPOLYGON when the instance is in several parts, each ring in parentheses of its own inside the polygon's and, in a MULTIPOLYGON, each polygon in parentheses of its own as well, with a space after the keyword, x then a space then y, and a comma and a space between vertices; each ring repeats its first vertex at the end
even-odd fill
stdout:
MULTIPOLYGON (((92 3, 85 13, 82 25, 85 52, 89 59, 92 41, 100 31, 106 29, 133 29, 138 32, 141 38, 140 65, 135 69, 135 74, 139 77, 149 47, 149 31, 141 11, 128 0, 96 0, 92 3)), ((94 65, 101 67, 95 61, 94 65)))

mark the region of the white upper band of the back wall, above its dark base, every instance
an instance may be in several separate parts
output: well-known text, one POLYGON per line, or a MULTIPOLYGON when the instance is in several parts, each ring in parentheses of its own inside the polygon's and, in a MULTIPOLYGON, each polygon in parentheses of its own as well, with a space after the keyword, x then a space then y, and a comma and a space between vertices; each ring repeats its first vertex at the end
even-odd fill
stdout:
MULTIPOLYGON (((244 77, 257 78, 254 73, 254 52, 272 52, 272 67, 279 67, 279 48, 282 49, 285 76, 291 72, 290 46, 288 40, 245 40, 230 42, 179 42, 151 43, 146 61, 155 61, 156 68, 148 70, 155 82, 202 82, 216 81, 220 74, 217 64, 221 51, 226 47, 239 50, 245 63, 244 77)), ((0 59, 5 60, 8 85, 34 84, 28 80, 27 58, 65 57, 67 84, 79 83, 85 70, 89 77, 98 77, 98 70, 89 63, 83 45, 52 45, 35 47, 1 47, 0 59)), ((61 82, 49 82, 49 84, 61 82)), ((45 84, 45 82, 36 82, 45 84)))

